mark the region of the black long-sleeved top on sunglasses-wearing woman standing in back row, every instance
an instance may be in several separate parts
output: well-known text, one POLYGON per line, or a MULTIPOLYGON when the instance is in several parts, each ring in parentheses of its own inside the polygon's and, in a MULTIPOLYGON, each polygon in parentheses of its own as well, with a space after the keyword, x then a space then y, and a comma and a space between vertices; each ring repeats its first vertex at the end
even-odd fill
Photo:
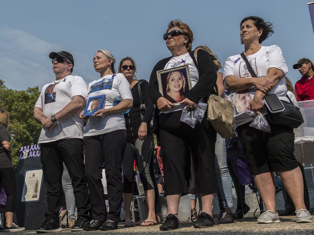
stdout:
POLYGON ((136 83, 131 89, 133 96, 133 108, 131 108, 128 113, 124 114, 128 139, 138 138, 138 128, 140 127, 141 123, 149 123, 154 112, 154 104, 148 95, 148 82, 146 80, 142 80, 140 86, 146 110, 142 120, 141 114, 139 112, 141 101, 138 94, 138 83, 136 83))

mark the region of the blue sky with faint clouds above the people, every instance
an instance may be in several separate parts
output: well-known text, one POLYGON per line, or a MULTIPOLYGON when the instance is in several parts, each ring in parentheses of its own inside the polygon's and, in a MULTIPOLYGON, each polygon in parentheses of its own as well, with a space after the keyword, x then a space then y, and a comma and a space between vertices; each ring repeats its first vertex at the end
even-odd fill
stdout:
POLYGON ((141 79, 149 80, 155 63, 170 52, 162 35, 172 19, 180 18, 194 33, 192 47, 209 46, 222 65, 244 50, 242 18, 255 15, 271 21, 275 33, 262 45, 279 45, 295 83, 292 65, 300 58, 314 61, 314 34, 307 2, 263 1, 2 1, 0 9, 0 79, 12 89, 40 88, 54 80, 51 51, 73 54, 73 75, 89 83, 99 78, 92 59, 107 49, 116 65, 131 56, 141 79))

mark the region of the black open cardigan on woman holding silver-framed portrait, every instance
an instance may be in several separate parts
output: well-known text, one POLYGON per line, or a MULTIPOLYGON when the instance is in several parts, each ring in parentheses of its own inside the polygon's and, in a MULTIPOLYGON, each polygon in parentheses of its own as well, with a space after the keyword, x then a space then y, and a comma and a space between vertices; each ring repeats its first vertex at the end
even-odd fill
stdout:
MULTIPOLYGON (((198 82, 187 93, 186 98, 194 103, 198 103, 201 98, 206 98, 213 91, 217 81, 217 70, 214 61, 205 50, 198 50, 198 63, 194 57, 194 51, 189 51, 196 68, 198 69, 198 82)), ((156 104, 157 99, 162 97, 158 89, 157 71, 163 70, 171 57, 160 60, 155 66, 149 78, 148 93, 150 98, 156 104)), ((156 111, 158 107, 156 106, 156 111)), ((155 116, 156 117, 156 116, 155 116)))

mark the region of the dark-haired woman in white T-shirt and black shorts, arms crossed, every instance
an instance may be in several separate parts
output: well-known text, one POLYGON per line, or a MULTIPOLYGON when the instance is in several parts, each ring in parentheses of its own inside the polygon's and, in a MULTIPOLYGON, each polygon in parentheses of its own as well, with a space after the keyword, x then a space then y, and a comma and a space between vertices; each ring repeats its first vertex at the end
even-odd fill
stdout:
MULTIPOLYGON (((252 77, 241 55, 230 56, 225 63, 224 84, 229 91, 255 91, 248 109, 256 112, 264 108, 263 98, 276 94, 280 100, 289 102, 284 75, 288 67, 279 46, 260 44, 273 34, 273 25, 260 17, 249 16, 240 24, 241 43, 244 53, 257 77, 252 77)), ((268 115, 266 115, 268 119, 268 115)), ((246 152, 247 163, 266 211, 258 223, 280 222, 275 204, 275 186, 272 172, 277 171, 296 209, 296 222, 312 222, 303 199, 302 174, 294 152, 293 128, 269 122, 271 133, 262 132, 249 126, 237 127, 241 144, 246 152)))

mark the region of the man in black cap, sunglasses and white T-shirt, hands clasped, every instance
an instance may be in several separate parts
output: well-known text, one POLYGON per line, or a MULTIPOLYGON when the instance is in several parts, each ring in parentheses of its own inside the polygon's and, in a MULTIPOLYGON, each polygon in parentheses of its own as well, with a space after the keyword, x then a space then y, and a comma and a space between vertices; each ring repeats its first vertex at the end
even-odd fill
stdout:
POLYGON ((74 59, 67 51, 51 52, 55 81, 46 84, 34 108, 34 118, 42 125, 38 144, 47 189, 46 220, 36 232, 61 231, 61 178, 63 162, 72 180, 78 217, 71 231, 83 230, 89 224, 89 193, 83 165, 83 121, 79 113, 87 97, 83 78, 73 76, 74 59), (47 102, 46 90, 54 86, 54 99, 47 102))

